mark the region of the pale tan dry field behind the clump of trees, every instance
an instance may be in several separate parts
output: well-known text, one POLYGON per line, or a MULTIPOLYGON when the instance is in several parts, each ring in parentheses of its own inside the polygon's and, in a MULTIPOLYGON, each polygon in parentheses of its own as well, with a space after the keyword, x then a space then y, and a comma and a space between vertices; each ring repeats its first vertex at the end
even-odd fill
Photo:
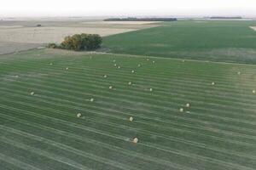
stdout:
POLYGON ((0 20, 0 54, 61 42, 76 33, 100 34, 102 37, 157 26, 157 22, 103 22, 102 20, 0 20), (37 27, 37 25, 42 25, 37 27), (13 49, 13 50, 11 50, 13 49))

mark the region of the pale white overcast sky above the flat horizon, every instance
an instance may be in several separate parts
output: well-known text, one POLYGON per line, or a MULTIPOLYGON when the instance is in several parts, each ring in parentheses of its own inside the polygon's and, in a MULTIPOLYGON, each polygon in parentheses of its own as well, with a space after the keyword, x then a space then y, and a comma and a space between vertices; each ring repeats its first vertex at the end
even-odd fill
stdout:
POLYGON ((256 16, 256 0, 1 0, 0 17, 256 16))

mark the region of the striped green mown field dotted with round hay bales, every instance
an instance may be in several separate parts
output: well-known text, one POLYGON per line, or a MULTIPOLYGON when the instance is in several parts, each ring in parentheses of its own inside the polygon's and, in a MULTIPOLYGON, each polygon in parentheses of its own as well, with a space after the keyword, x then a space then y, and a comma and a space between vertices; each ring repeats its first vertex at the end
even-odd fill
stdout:
POLYGON ((40 49, 0 83, 0 169, 256 168, 256 65, 40 49))

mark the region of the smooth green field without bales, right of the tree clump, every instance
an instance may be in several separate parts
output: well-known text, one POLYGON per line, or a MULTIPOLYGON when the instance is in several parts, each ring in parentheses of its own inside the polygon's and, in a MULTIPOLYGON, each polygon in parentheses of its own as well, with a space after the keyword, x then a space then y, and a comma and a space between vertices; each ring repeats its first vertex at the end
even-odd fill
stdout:
POLYGON ((105 50, 256 64, 256 21, 177 21, 104 38, 105 50))

